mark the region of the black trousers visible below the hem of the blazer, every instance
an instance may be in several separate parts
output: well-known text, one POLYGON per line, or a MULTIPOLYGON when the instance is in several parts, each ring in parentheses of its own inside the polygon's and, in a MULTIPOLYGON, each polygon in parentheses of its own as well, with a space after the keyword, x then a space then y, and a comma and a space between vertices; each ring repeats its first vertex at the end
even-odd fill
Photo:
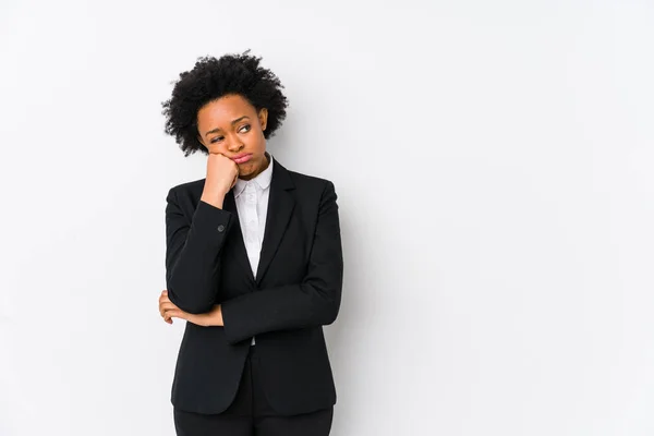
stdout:
POLYGON ((174 409, 178 436, 328 436, 334 408, 300 415, 278 415, 266 401, 258 378, 256 346, 250 347, 239 391, 222 413, 207 415, 174 409))

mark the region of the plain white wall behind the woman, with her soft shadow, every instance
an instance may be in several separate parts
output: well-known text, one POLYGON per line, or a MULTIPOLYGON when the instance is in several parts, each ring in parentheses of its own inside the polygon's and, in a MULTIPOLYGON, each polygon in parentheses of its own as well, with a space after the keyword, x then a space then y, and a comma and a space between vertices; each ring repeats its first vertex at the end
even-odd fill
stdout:
POLYGON ((173 435, 171 81, 252 48, 332 180, 332 435, 654 432, 654 3, 0 7, 0 435, 173 435))

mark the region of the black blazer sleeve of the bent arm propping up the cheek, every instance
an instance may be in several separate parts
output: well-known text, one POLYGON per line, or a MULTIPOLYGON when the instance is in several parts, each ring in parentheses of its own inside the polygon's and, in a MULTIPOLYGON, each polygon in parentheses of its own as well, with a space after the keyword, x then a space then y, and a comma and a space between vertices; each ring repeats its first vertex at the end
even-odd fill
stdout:
POLYGON ((191 220, 171 189, 166 198, 166 287, 182 311, 209 312, 217 298, 220 252, 232 214, 199 201, 191 220))

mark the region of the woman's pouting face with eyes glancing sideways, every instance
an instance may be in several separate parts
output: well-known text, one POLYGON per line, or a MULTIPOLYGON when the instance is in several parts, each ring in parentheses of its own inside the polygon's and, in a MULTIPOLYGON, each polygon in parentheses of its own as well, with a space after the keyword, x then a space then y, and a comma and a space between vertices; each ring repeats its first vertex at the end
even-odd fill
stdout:
POLYGON ((240 95, 209 101, 197 111, 199 142, 209 153, 229 157, 239 166, 239 178, 250 180, 268 167, 266 159, 267 109, 256 112, 240 95))

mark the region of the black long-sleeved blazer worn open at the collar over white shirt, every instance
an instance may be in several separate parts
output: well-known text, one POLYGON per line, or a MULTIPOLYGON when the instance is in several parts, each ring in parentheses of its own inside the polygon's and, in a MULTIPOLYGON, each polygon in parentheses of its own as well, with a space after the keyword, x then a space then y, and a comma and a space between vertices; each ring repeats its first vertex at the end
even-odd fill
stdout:
POLYGON ((340 301, 343 257, 334 183, 275 159, 257 277, 234 203, 199 201, 205 179, 172 187, 166 207, 170 301, 193 314, 222 304, 225 327, 186 323, 172 384, 175 408, 220 413, 233 401, 251 338, 262 383, 279 414, 336 403, 323 335, 340 301))

